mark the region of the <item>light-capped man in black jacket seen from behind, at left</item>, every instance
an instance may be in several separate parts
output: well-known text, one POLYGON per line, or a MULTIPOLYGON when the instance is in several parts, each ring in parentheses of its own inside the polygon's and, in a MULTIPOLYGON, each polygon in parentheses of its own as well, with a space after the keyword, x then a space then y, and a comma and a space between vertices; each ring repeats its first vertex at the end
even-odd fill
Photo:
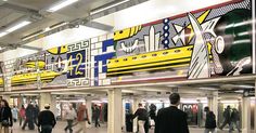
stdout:
POLYGON ((38 128, 41 128, 40 133, 52 133, 52 129, 56 124, 55 116, 49 110, 50 104, 46 104, 44 109, 46 110, 40 111, 38 115, 38 128))

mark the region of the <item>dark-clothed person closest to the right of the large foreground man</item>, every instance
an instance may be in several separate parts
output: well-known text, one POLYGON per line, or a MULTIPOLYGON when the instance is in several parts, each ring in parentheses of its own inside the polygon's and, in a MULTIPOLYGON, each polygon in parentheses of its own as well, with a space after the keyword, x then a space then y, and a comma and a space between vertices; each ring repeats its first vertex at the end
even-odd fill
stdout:
POLYGON ((209 110, 209 107, 205 107, 204 111, 206 112, 205 120, 205 133, 215 133, 216 129, 216 116, 213 111, 209 110))

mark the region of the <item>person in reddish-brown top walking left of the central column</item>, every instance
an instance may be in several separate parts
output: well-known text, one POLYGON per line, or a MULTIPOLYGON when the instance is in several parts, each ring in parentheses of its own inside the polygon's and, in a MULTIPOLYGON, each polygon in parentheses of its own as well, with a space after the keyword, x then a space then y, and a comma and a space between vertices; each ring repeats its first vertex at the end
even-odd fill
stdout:
POLYGON ((77 122, 78 122, 79 129, 77 130, 76 133, 80 133, 81 131, 82 133, 86 133, 87 121, 90 124, 87 107, 86 105, 80 104, 77 111, 77 122))

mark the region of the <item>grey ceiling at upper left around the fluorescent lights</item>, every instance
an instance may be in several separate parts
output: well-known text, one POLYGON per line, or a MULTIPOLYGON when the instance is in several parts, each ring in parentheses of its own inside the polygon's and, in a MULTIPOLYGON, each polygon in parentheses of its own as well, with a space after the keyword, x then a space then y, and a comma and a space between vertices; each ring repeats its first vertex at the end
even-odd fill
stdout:
POLYGON ((0 0, 0 29, 11 25, 18 18, 29 17, 33 24, 21 28, 0 38, 0 43, 17 43, 22 38, 44 30, 47 27, 60 22, 71 22, 77 18, 84 18, 90 11, 102 6, 114 0, 79 0, 54 13, 49 13, 46 9, 59 2, 59 0, 0 0))

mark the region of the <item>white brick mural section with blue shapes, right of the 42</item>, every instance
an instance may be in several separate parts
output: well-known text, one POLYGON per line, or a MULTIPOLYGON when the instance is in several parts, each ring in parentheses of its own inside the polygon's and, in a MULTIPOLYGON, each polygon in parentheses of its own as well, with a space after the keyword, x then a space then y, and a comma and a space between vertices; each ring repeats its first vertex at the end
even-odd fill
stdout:
POLYGON ((108 85, 111 80, 106 78, 107 61, 115 56, 114 40, 110 35, 91 39, 91 84, 108 85))

